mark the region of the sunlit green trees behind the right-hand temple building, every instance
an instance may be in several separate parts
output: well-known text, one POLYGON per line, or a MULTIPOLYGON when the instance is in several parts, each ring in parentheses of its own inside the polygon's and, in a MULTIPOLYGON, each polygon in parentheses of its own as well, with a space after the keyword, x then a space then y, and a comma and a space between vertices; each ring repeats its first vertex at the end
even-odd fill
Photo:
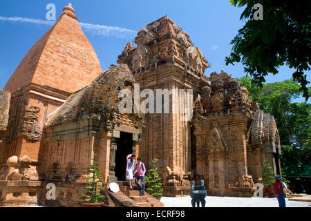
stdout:
MULTIPOLYGON (((299 84, 290 79, 263 84, 260 88, 252 83, 250 77, 242 77, 238 81, 241 86, 246 86, 249 97, 276 119, 281 139, 282 166, 310 164, 311 104, 292 102, 301 96, 299 84)), ((309 87, 308 93, 310 90, 309 87)))

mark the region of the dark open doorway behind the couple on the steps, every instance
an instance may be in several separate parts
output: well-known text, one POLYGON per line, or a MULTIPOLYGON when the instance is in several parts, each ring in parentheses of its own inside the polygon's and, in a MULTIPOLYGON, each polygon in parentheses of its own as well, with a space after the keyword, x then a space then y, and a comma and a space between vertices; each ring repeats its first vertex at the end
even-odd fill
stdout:
POLYGON ((125 180, 126 156, 133 152, 133 134, 120 133, 115 152, 115 176, 117 180, 125 180))

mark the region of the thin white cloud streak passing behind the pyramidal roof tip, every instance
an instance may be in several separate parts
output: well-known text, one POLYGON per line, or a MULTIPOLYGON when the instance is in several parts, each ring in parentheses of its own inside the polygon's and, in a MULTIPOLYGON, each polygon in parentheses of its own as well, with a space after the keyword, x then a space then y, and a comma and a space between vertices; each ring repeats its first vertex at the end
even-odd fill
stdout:
MULTIPOLYGON (((47 21, 40 19, 30 19, 24 17, 0 17, 0 21, 20 22, 20 23, 35 23, 38 25, 49 25, 52 26, 55 21, 47 21)), ((92 23, 79 23, 81 28, 86 32, 91 32, 92 35, 99 35, 102 37, 119 37, 124 39, 132 39, 136 31, 127 28, 113 27, 97 25, 92 23)))

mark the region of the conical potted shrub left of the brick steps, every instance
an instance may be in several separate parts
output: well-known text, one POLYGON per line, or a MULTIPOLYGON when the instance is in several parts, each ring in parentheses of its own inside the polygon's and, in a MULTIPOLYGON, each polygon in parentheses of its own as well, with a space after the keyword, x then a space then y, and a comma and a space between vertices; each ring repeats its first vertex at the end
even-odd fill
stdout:
POLYGON ((80 197, 80 199, 84 200, 84 207, 101 207, 104 204, 102 200, 104 200, 105 196, 101 193, 104 187, 102 186, 102 180, 100 180, 102 173, 97 166, 98 162, 95 162, 95 157, 96 154, 92 160, 93 163, 88 164, 89 176, 84 177, 86 179, 86 182, 83 183, 85 196, 80 197))

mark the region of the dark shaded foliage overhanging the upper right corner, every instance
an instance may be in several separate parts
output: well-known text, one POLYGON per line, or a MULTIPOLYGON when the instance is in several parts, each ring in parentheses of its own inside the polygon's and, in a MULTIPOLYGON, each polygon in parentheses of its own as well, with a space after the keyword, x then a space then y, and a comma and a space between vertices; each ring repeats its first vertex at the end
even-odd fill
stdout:
POLYGON ((294 68, 292 77, 298 81, 303 97, 308 100, 307 75, 311 62, 310 0, 230 0, 233 6, 245 7, 240 20, 247 20, 232 40, 232 53, 226 65, 242 62, 245 73, 259 86, 268 73, 286 64, 294 68), (254 5, 263 6, 263 20, 256 21, 254 5))

